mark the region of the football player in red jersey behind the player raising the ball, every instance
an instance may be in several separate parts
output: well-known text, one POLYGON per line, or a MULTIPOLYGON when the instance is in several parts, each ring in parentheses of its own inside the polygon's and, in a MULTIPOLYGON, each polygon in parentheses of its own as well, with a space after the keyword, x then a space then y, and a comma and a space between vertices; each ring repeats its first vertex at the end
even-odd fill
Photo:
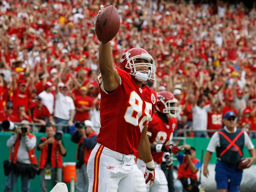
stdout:
MULTIPOLYGON (((171 144, 172 135, 177 126, 176 117, 180 114, 181 109, 177 107, 178 100, 171 92, 157 92, 156 113, 153 114, 153 119, 148 123, 148 139, 150 142, 151 154, 155 162, 155 180, 151 188, 147 186, 147 191, 152 192, 168 192, 167 180, 164 172, 161 169, 163 157, 166 159, 166 168, 172 166, 170 153, 177 154, 180 150, 178 146, 171 144)), ((145 163, 140 159, 139 154, 136 164, 139 169, 145 171, 145 163)))

